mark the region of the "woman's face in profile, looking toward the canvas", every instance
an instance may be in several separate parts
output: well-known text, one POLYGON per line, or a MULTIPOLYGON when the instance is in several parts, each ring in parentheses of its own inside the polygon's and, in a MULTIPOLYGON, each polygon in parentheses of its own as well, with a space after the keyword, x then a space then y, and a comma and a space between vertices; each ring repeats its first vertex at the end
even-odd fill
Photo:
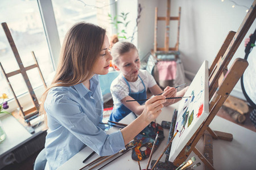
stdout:
POLYGON ((109 53, 109 39, 108 36, 105 35, 104 43, 101 48, 100 58, 93 65, 93 74, 108 74, 109 73, 109 65, 110 60, 112 60, 112 56, 109 53))

